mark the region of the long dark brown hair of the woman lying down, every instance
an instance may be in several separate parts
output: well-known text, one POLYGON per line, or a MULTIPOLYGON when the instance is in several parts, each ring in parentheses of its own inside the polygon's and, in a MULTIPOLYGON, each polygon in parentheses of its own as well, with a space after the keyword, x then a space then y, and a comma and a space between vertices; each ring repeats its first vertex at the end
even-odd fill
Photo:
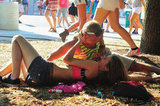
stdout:
POLYGON ((115 82, 128 80, 127 70, 118 56, 111 55, 111 60, 106 67, 109 71, 99 71, 97 83, 113 85, 115 82))

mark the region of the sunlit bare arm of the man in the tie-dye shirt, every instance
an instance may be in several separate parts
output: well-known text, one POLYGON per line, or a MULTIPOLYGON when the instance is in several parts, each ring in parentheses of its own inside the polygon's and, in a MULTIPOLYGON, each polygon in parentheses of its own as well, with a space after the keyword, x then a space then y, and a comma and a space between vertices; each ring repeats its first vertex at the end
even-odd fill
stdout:
POLYGON ((58 49, 53 51, 49 56, 47 56, 48 61, 53 61, 55 59, 58 59, 62 56, 64 56, 68 50, 78 41, 78 39, 74 38, 73 40, 64 43, 62 46, 60 46, 58 49))

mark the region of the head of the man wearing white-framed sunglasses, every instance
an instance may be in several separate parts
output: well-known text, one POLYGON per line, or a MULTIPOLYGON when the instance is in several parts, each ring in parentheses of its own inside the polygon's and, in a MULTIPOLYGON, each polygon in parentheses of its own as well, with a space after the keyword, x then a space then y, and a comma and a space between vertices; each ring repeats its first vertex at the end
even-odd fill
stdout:
POLYGON ((97 21, 89 21, 84 24, 81 35, 83 42, 87 44, 95 44, 103 35, 103 29, 97 21))

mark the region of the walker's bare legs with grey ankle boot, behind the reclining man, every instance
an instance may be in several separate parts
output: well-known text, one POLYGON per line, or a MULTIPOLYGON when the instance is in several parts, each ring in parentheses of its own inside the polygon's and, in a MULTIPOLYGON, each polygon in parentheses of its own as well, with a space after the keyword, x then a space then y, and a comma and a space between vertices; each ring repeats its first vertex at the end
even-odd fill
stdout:
POLYGON ((78 31, 81 31, 83 25, 86 22, 86 4, 87 0, 74 0, 74 3, 78 9, 78 22, 72 24, 69 28, 65 29, 62 33, 59 34, 62 41, 65 42, 66 37, 69 35, 69 32, 79 27, 78 31))

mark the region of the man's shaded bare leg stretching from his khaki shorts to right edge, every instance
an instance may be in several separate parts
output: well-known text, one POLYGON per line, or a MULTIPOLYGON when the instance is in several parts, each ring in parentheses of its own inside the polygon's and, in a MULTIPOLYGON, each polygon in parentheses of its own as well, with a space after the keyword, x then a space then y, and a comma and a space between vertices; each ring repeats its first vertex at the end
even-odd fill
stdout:
POLYGON ((159 67, 141 62, 133 62, 129 70, 134 72, 145 72, 145 73, 155 72, 158 75, 160 74, 159 67))

